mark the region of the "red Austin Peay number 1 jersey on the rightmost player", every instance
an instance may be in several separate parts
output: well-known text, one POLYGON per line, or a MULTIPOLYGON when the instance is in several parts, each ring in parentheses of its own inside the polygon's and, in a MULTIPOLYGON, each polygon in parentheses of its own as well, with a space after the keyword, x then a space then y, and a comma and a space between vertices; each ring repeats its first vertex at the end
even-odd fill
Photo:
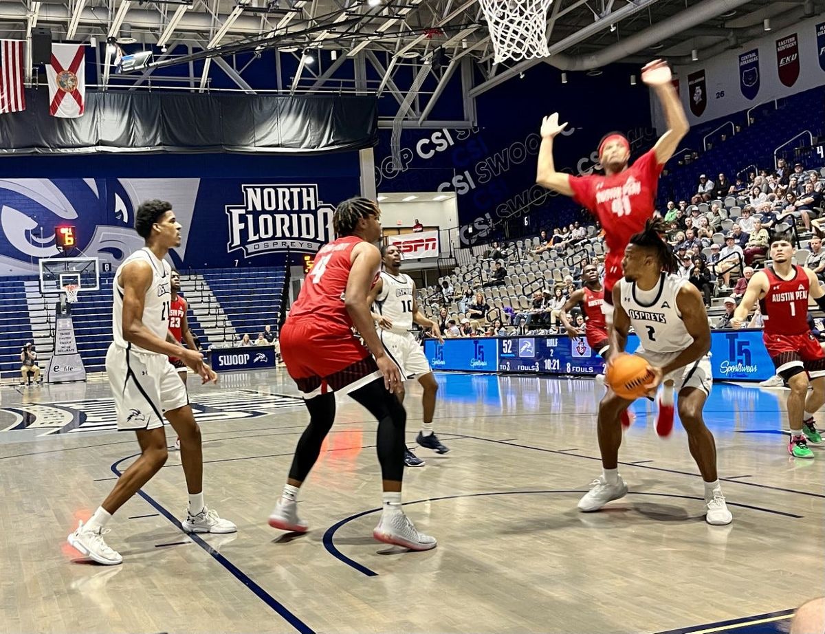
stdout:
POLYGON ((770 285, 759 300, 765 334, 804 334, 808 330, 808 291, 810 280, 805 269, 794 266, 794 277, 783 280, 773 268, 765 267, 770 285))

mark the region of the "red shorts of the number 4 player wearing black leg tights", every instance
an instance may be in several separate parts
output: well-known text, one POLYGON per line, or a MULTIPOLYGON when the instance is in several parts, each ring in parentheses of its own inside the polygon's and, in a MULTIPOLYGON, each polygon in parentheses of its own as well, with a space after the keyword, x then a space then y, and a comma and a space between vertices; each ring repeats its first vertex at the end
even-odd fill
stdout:
POLYGON ((370 351, 351 332, 311 319, 286 321, 281 358, 305 399, 328 390, 349 393, 381 376, 370 351))

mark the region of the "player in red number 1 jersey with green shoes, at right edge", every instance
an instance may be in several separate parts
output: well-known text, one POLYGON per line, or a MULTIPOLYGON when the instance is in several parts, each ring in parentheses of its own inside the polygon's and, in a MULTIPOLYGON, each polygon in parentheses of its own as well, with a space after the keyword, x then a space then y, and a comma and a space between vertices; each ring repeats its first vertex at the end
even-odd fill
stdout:
POLYGON ((813 458, 808 442, 822 442, 813 414, 825 404, 825 352, 808 328, 808 297, 825 310, 825 291, 813 271, 791 261, 794 244, 789 234, 771 236, 770 248, 771 267, 757 271, 747 282, 731 325, 741 328, 748 310, 759 300, 765 323, 762 340, 776 374, 790 387, 788 452, 797 458, 813 458), (809 394, 808 385, 812 388, 809 394))

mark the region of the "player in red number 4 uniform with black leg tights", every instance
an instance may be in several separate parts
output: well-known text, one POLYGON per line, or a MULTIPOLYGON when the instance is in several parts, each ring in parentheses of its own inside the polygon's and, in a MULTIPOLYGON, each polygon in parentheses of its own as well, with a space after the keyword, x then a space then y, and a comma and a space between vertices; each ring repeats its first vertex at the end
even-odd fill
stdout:
POLYGON ((426 551, 436 540, 418 532, 401 509, 404 427, 407 413, 395 392, 398 366, 375 331, 368 296, 378 278, 381 255, 380 209, 366 198, 337 206, 332 225, 337 238, 315 256, 298 299, 281 328, 281 357, 309 409, 309 426, 295 457, 270 526, 304 532, 296 499, 335 419, 334 391, 349 394, 378 419, 378 460, 384 480, 383 512, 373 537, 380 542, 426 551), (352 334, 355 327, 367 345, 352 334), (372 356, 370 356, 372 352, 372 356))

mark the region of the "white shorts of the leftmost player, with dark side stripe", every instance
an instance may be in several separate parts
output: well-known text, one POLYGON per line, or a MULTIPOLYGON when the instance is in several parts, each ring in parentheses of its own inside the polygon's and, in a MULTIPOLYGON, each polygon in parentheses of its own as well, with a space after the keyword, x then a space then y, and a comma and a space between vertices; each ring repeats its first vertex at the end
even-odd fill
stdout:
POLYGON ((119 431, 163 427, 163 414, 189 405, 186 386, 165 355, 134 352, 111 343, 106 351, 119 431))

